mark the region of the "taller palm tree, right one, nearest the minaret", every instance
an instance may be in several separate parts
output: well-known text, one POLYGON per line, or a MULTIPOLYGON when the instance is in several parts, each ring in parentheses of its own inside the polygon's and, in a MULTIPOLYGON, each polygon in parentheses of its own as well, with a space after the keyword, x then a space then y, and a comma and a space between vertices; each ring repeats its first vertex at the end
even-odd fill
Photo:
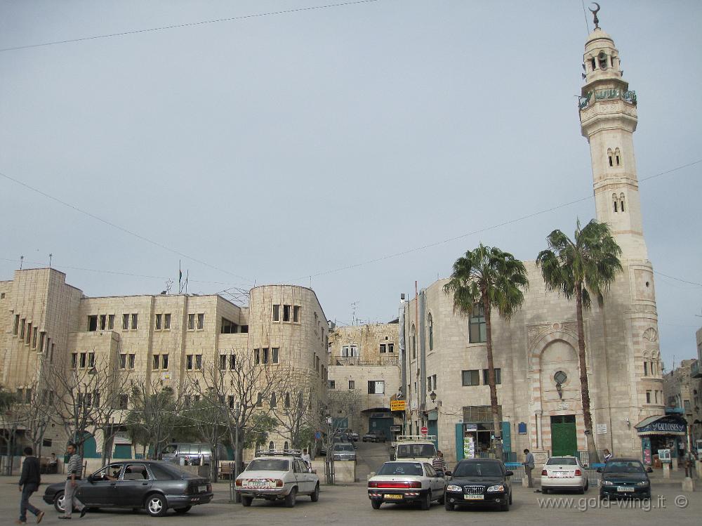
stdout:
POLYGON ((583 399, 583 421, 588 440, 588 460, 590 464, 600 461, 592 435, 592 414, 590 413, 590 386, 588 369, 585 364, 585 331, 583 329, 583 308, 589 309, 592 296, 602 303, 616 275, 622 271, 621 248, 616 244, 607 223, 594 219, 585 228, 578 221, 575 239, 571 240, 560 230, 554 230, 548 237, 548 249, 542 250, 536 258, 541 267, 543 281, 548 290, 557 290, 566 298, 575 296, 578 321, 578 362, 580 366, 580 390, 583 399))

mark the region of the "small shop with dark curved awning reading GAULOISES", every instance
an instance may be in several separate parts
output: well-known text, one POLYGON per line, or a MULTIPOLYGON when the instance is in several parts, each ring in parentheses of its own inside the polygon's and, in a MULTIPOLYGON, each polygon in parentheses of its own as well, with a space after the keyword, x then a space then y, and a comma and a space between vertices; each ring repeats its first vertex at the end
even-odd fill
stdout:
POLYGON ((656 465, 659 449, 670 449, 673 462, 684 453, 687 444, 687 421, 680 414, 649 416, 634 426, 641 438, 642 460, 656 465))

